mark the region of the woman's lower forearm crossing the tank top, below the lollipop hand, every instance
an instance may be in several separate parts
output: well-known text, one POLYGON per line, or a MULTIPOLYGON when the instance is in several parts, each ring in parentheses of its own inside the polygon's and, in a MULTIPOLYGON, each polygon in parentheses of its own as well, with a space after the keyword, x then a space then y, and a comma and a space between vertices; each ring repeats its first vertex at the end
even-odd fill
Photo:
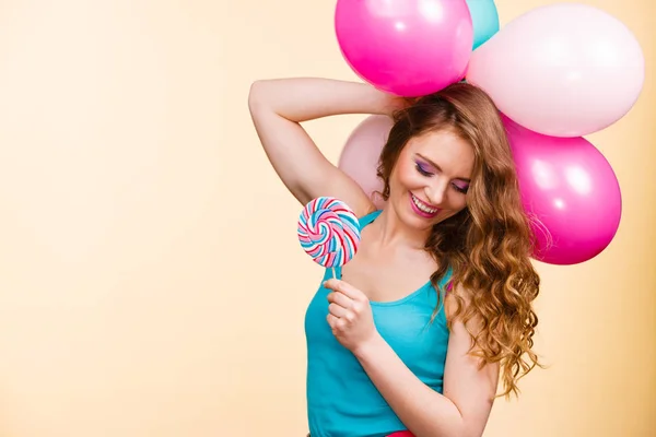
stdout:
POLYGON ((397 416, 415 437, 466 437, 458 408, 423 383, 377 335, 355 357, 397 416))

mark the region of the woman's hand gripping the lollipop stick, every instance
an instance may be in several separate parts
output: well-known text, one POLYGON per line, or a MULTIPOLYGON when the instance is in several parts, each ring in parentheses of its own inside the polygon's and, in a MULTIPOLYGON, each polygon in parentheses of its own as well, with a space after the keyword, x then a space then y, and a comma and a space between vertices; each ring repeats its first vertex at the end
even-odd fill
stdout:
POLYGON ((351 352, 378 335, 370 300, 364 293, 340 280, 328 280, 328 324, 337 340, 351 352))

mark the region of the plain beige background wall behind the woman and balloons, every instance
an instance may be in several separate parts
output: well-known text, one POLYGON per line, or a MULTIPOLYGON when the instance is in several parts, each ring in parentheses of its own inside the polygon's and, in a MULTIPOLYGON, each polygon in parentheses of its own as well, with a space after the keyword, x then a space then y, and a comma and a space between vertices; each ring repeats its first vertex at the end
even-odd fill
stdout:
MULTIPOLYGON (((548 0, 497 0, 503 23, 548 0)), ((538 264, 548 370, 485 436, 656 435, 651 0, 586 0, 636 34, 644 93, 590 140, 619 234, 538 264)), ((302 436, 320 269, 251 127, 251 81, 354 79, 335 1, 0 1, 0 436, 302 436), (55 5, 57 4, 57 5, 55 5)), ((362 116, 308 125, 337 162, 362 116)))

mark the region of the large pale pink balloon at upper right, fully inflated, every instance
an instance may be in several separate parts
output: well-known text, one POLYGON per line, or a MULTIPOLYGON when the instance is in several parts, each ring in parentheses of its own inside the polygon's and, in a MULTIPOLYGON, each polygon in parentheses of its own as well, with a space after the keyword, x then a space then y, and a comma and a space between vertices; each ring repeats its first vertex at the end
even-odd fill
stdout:
POLYGON ((515 19, 471 55, 467 81, 517 123, 582 137, 635 104, 645 61, 632 33, 608 13, 558 3, 515 19))

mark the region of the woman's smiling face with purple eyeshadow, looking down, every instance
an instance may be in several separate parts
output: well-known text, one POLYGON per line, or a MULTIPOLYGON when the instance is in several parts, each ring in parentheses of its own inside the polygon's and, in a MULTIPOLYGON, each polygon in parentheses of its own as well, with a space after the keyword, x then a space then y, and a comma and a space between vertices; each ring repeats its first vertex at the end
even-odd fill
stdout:
POLYGON ((407 225, 426 229, 467 206, 473 149, 450 130, 412 138, 389 178, 388 203, 407 225))

